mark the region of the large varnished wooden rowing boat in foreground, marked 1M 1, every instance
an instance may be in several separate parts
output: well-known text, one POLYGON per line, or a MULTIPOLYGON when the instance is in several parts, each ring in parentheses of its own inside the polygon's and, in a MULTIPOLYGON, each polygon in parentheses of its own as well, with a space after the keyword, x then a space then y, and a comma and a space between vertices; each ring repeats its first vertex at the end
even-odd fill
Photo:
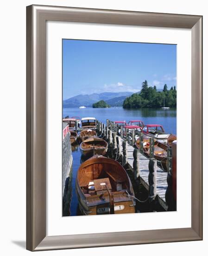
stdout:
POLYGON ((95 155, 83 162, 76 177, 83 215, 135 213, 132 183, 119 162, 95 155))

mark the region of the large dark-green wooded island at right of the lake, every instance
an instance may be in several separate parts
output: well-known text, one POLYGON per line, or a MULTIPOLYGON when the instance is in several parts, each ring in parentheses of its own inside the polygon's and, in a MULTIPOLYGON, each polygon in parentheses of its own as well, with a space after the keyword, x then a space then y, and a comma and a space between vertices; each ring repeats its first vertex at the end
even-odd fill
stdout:
POLYGON ((134 93, 123 102, 123 108, 176 108, 176 86, 168 90, 164 85, 163 91, 158 92, 156 86, 149 87, 147 81, 142 83, 139 93, 134 93))

